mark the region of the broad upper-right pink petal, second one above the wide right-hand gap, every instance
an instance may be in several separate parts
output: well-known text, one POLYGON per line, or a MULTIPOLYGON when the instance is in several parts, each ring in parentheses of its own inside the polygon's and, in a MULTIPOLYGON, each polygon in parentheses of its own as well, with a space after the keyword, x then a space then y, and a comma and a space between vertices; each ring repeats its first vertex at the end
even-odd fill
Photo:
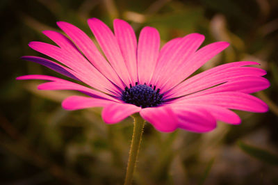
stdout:
POLYGON ((168 79, 176 72, 179 72, 183 65, 186 65, 186 61, 195 54, 195 51, 202 45, 203 41, 204 35, 191 33, 179 40, 170 42, 165 46, 165 49, 161 49, 158 64, 156 65, 156 80, 154 84, 158 87, 163 87, 168 79))

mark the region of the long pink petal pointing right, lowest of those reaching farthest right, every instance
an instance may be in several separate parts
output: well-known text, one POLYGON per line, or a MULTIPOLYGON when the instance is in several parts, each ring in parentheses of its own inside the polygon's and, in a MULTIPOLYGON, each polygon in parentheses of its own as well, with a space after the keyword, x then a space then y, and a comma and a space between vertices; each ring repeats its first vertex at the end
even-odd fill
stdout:
POLYGON ((198 97, 181 97, 172 104, 210 104, 224 108, 264 113, 268 111, 268 105, 261 99, 240 92, 220 92, 198 97))

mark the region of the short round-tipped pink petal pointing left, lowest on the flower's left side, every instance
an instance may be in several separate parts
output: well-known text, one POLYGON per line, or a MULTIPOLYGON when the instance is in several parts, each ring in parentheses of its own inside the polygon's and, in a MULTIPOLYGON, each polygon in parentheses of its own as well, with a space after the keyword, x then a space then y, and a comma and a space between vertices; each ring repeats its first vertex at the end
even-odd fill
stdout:
POLYGON ((111 104, 111 101, 107 99, 71 96, 71 97, 67 97, 63 101, 62 106, 66 110, 72 111, 72 110, 79 110, 79 109, 90 108, 90 107, 103 107, 108 104, 111 104))

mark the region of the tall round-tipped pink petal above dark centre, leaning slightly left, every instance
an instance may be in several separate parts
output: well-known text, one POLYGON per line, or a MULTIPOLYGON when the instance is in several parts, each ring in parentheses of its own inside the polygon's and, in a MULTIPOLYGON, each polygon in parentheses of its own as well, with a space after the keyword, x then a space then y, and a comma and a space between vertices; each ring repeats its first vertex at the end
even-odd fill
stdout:
POLYGON ((122 56, 124 57, 127 70, 129 71, 129 76, 133 82, 131 85, 135 86, 135 83, 138 81, 136 35, 132 27, 121 19, 114 20, 114 32, 122 51, 122 56))

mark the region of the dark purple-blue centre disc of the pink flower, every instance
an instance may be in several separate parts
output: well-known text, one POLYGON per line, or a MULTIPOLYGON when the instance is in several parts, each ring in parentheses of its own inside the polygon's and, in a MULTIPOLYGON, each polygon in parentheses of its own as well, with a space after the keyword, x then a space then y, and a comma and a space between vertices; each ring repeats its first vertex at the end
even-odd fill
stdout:
POLYGON ((129 85, 130 88, 124 88, 122 92, 122 100, 128 104, 134 104, 142 108, 158 106, 163 102, 163 95, 159 94, 160 89, 156 90, 156 86, 147 86, 138 84, 136 86, 129 85))

